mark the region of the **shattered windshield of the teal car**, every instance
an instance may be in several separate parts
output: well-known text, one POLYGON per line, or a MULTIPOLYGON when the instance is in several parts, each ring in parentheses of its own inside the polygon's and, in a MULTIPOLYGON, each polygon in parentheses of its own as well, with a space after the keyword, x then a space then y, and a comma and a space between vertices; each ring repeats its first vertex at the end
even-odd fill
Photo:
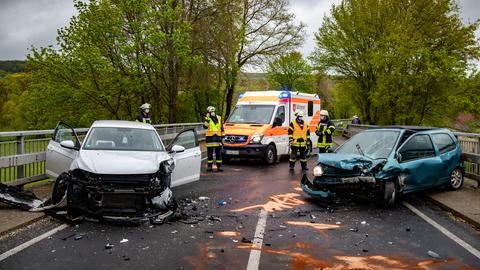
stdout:
POLYGON ((339 154, 359 154, 371 159, 386 159, 397 142, 399 131, 365 131, 346 141, 339 154))

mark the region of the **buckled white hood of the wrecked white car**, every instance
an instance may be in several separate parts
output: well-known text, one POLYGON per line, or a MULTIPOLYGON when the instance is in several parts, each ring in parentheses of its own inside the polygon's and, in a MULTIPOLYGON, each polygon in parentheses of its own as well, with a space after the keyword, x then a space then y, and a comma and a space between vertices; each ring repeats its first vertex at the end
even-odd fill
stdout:
POLYGON ((81 150, 71 169, 97 174, 148 174, 157 172, 160 162, 169 158, 166 152, 81 150))

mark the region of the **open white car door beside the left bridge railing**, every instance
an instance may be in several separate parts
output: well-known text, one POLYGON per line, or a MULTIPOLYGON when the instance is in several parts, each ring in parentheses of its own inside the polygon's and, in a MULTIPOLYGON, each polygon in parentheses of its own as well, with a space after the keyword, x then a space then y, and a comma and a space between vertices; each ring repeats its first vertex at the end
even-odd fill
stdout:
POLYGON ((80 140, 75 130, 68 124, 58 122, 53 132, 52 139, 48 143, 46 153, 46 173, 56 178, 62 172, 70 169, 72 161, 80 149, 80 140), (60 145, 62 141, 72 141, 76 149, 65 148, 60 145))

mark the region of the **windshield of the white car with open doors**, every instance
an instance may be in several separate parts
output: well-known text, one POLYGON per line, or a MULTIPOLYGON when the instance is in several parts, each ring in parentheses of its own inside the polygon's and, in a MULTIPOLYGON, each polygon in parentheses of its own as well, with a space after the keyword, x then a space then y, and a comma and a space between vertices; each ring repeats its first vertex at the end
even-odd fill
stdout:
POLYGON ((155 130, 121 127, 95 127, 90 131, 85 150, 164 151, 155 130))

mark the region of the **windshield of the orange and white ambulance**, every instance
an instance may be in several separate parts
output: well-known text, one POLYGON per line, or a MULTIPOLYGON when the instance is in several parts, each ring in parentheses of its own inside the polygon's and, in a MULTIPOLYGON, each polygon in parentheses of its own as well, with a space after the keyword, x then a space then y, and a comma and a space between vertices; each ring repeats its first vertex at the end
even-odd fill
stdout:
POLYGON ((229 123, 269 124, 274 105, 237 105, 228 118, 229 123))

